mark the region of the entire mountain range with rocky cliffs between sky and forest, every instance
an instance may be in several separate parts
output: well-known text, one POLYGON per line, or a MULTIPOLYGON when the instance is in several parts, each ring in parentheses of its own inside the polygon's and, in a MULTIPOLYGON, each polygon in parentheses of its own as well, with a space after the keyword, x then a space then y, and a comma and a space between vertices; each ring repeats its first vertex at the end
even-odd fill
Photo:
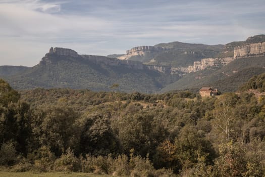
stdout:
POLYGON ((50 48, 33 67, 0 66, 0 77, 15 89, 69 87, 122 92, 158 93, 217 87, 236 91, 255 74, 265 72, 265 35, 226 45, 183 42, 135 47, 107 57, 79 55, 50 48))

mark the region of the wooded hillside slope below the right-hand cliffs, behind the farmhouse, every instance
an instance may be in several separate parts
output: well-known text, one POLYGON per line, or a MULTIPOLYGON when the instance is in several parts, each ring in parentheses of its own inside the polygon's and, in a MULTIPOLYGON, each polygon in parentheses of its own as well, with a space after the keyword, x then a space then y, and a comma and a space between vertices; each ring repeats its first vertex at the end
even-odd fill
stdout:
POLYGON ((222 92, 236 91, 253 75, 265 72, 265 56, 237 59, 221 68, 192 72, 167 85, 161 92, 214 86, 222 92))

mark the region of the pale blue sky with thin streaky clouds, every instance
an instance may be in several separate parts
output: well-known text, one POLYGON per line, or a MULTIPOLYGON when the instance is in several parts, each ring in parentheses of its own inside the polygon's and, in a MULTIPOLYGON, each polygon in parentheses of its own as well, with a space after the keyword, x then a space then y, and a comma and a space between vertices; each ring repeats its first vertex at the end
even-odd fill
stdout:
POLYGON ((0 0, 0 65, 34 66, 50 47, 107 56, 242 41, 265 34, 264 9, 264 0, 0 0))

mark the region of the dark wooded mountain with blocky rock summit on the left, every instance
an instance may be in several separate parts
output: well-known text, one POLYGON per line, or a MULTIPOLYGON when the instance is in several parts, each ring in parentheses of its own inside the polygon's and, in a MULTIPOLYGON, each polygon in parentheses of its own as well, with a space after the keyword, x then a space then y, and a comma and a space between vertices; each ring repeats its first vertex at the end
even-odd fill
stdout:
POLYGON ((149 69, 141 62, 78 55, 70 49, 55 48, 38 65, 4 78, 16 89, 70 87, 109 91, 112 84, 118 83, 119 91, 153 93, 180 76, 149 69))

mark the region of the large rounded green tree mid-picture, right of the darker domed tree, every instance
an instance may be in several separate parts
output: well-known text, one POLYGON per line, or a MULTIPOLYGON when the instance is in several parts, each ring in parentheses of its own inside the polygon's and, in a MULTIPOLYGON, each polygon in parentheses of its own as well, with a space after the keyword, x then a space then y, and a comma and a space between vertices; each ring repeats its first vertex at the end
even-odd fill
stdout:
POLYGON ((152 113, 139 111, 119 121, 118 135, 126 153, 133 148, 136 155, 145 157, 149 153, 152 157, 165 138, 166 130, 159 121, 154 121, 152 113))

